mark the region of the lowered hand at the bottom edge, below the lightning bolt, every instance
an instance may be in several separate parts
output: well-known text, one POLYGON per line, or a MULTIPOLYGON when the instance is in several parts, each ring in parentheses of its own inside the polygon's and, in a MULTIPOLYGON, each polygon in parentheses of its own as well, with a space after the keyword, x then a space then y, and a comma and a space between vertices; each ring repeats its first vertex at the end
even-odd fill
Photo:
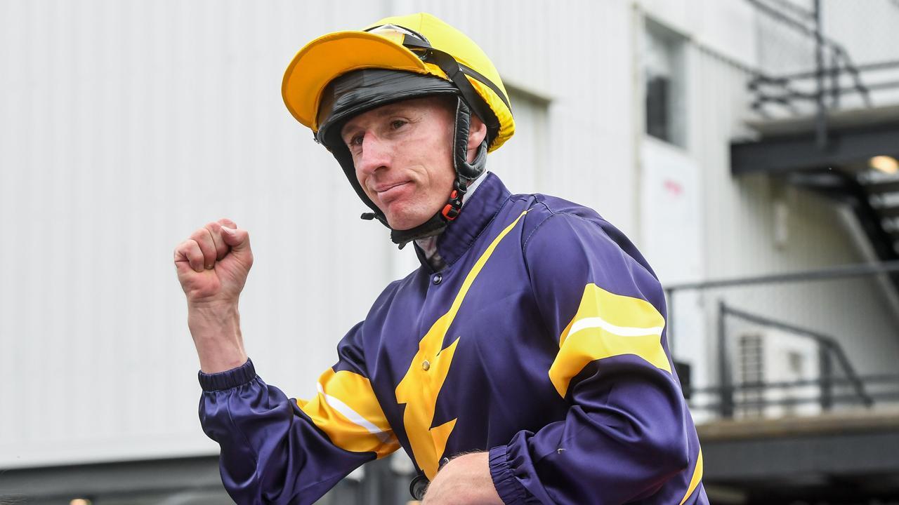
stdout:
POLYGON ((458 456, 441 468, 422 505, 503 505, 490 476, 489 454, 458 456))

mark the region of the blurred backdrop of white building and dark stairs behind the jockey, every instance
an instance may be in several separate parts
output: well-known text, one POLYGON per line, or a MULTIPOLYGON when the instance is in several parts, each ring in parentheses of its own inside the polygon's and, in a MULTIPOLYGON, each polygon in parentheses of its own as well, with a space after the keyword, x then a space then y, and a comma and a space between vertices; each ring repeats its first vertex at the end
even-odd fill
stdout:
MULTIPOLYGON (((246 349, 315 394, 417 260, 281 76, 418 11, 503 75, 488 169, 596 208, 663 281, 710 500, 899 503, 896 0, 0 0, 0 502, 230 502, 174 246, 250 230, 246 349)), ((401 453, 321 503, 404 504, 401 453)))

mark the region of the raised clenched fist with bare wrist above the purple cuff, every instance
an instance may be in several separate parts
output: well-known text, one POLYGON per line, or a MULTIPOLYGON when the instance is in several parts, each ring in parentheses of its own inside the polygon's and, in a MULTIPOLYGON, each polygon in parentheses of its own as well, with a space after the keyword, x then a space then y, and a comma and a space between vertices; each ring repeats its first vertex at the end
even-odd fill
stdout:
POLYGON ((175 247, 174 266, 200 369, 215 373, 243 365, 237 301, 253 266, 249 234, 229 219, 209 223, 175 247))

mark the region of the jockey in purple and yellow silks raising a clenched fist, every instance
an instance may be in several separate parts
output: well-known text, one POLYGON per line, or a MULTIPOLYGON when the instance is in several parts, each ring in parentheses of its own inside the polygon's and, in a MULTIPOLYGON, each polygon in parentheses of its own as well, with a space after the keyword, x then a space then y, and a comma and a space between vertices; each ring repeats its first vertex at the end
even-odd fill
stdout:
POLYGON ((176 248, 200 420, 236 501, 310 503, 403 447, 426 505, 708 503, 662 288, 592 209, 512 195, 485 172, 514 122, 474 42, 428 14, 387 18, 307 44, 282 91, 422 266, 303 401, 243 348, 247 232, 222 219, 176 248))

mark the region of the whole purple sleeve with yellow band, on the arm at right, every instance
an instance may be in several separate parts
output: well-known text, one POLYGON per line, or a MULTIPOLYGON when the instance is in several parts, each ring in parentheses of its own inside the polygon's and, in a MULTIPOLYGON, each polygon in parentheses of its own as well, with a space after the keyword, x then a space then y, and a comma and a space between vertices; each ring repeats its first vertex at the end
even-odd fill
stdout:
POLYGON ((653 495, 689 465, 692 429, 658 280, 598 217, 553 215, 523 247, 540 315, 560 348, 548 374, 570 406, 564 420, 491 449, 497 491, 510 505, 653 495))

